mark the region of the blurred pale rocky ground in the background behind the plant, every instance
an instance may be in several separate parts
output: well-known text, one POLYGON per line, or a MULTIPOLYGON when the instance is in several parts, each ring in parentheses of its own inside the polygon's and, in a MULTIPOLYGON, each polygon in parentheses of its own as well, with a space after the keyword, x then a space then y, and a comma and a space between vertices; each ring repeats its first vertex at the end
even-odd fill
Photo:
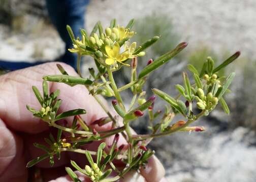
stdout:
MULTIPOLYGON (((43 7, 43 1, 40 2, 43 7)), ((106 26, 114 17, 126 24, 131 18, 167 14, 181 40, 189 42, 188 52, 202 44, 217 53, 241 50, 246 57, 255 58, 255 9, 253 0, 94 0, 87 8, 86 27, 91 29, 98 20, 106 26)), ((16 30, 10 30, 0 24, 0 60, 55 60, 65 51, 57 32, 42 16, 25 15, 15 27, 16 30)), ((179 82, 175 72, 184 65, 180 63, 168 70, 168 76, 161 79, 179 82)), ((157 82, 152 79, 154 86, 161 86, 157 82)), ((255 133, 243 127, 230 128, 227 120, 227 116, 215 112, 210 120, 200 121, 207 128, 204 133, 177 133, 152 143, 167 168, 169 181, 256 181, 255 133)))

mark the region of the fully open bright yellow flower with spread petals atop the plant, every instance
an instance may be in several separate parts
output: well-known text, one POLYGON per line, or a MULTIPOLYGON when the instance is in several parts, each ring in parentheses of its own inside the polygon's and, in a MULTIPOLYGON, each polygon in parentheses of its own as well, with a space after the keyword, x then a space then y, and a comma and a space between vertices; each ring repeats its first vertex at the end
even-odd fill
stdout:
MULTIPOLYGON (((105 63, 107 65, 115 65, 117 62, 122 63, 124 60, 128 59, 127 56, 129 56, 126 51, 123 53, 119 53, 120 52, 120 45, 115 42, 115 44, 113 45, 113 48, 111 48, 109 45, 106 45, 105 47, 106 53, 108 58, 106 59, 105 63)), ((128 64, 124 64, 126 66, 130 66, 128 64)))

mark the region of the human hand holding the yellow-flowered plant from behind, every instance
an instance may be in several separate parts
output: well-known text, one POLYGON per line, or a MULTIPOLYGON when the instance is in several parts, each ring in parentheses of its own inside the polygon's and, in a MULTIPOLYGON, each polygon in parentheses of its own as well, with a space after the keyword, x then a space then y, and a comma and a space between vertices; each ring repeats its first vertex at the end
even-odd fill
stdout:
MULTIPOLYGON (((70 75, 76 75, 74 69, 63 63, 62 65, 70 75)), ((44 138, 49 134, 49 126, 39 118, 33 118, 26 110, 25 105, 39 109, 39 103, 31 89, 32 85, 41 88, 42 76, 45 74, 59 74, 56 63, 46 63, 0 76, 0 181, 27 181, 28 169, 25 167, 29 159, 41 155, 41 151, 33 146, 34 142, 44 143, 44 138)), ((63 83, 49 82, 50 92, 60 89, 59 98, 63 100, 60 111, 83 108, 87 114, 83 119, 87 124, 105 117, 105 112, 98 103, 88 94, 82 85, 70 86, 63 83)), ((71 122, 68 120, 68 122, 71 122)), ((111 125, 94 126, 97 130, 108 130, 111 125)), ((52 132, 52 131, 51 131, 52 132)), ((54 132, 54 130, 53 130, 54 132)), ((113 138, 106 139, 111 144, 113 138)), ((124 143, 119 140, 119 144, 124 143)), ((99 143, 91 143, 86 149, 97 150, 99 143)), ((84 161, 84 155, 62 153, 60 160, 55 160, 54 167, 48 161, 42 161, 37 166, 41 169, 44 181, 72 181, 66 174, 65 167, 70 165, 70 160, 84 161)), ((165 170, 156 157, 151 157, 145 169, 140 174, 128 173, 122 181, 166 181, 163 177, 165 170), (140 178, 132 179, 132 177, 140 178), (143 176, 143 177, 142 177, 143 176)), ((90 181, 85 176, 79 175, 83 181, 90 181)))

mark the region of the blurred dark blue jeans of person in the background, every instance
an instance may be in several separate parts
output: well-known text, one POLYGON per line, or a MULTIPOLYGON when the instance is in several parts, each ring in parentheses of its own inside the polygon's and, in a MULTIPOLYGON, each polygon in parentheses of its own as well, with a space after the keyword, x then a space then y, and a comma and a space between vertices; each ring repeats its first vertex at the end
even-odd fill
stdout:
MULTIPOLYGON (((85 8, 89 0, 46 0, 46 7, 51 22, 56 27, 61 39, 66 44, 66 52, 60 61, 65 62, 76 69, 77 55, 70 53, 69 48, 73 47, 66 25, 70 25, 75 37, 80 35, 80 28, 84 27, 85 8)), ((44 62, 8 62, 0 61, 0 68, 17 70, 29 66, 35 66, 44 62)))

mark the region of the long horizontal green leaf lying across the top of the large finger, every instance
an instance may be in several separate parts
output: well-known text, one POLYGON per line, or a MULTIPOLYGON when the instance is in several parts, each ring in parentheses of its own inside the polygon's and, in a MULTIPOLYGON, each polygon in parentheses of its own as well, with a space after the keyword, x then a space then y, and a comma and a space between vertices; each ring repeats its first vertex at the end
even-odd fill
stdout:
POLYGON ((69 76, 69 75, 46 75, 43 77, 44 80, 61 82, 61 83, 73 83, 73 84, 82 84, 90 85, 92 81, 89 79, 81 78, 78 76, 69 76))

